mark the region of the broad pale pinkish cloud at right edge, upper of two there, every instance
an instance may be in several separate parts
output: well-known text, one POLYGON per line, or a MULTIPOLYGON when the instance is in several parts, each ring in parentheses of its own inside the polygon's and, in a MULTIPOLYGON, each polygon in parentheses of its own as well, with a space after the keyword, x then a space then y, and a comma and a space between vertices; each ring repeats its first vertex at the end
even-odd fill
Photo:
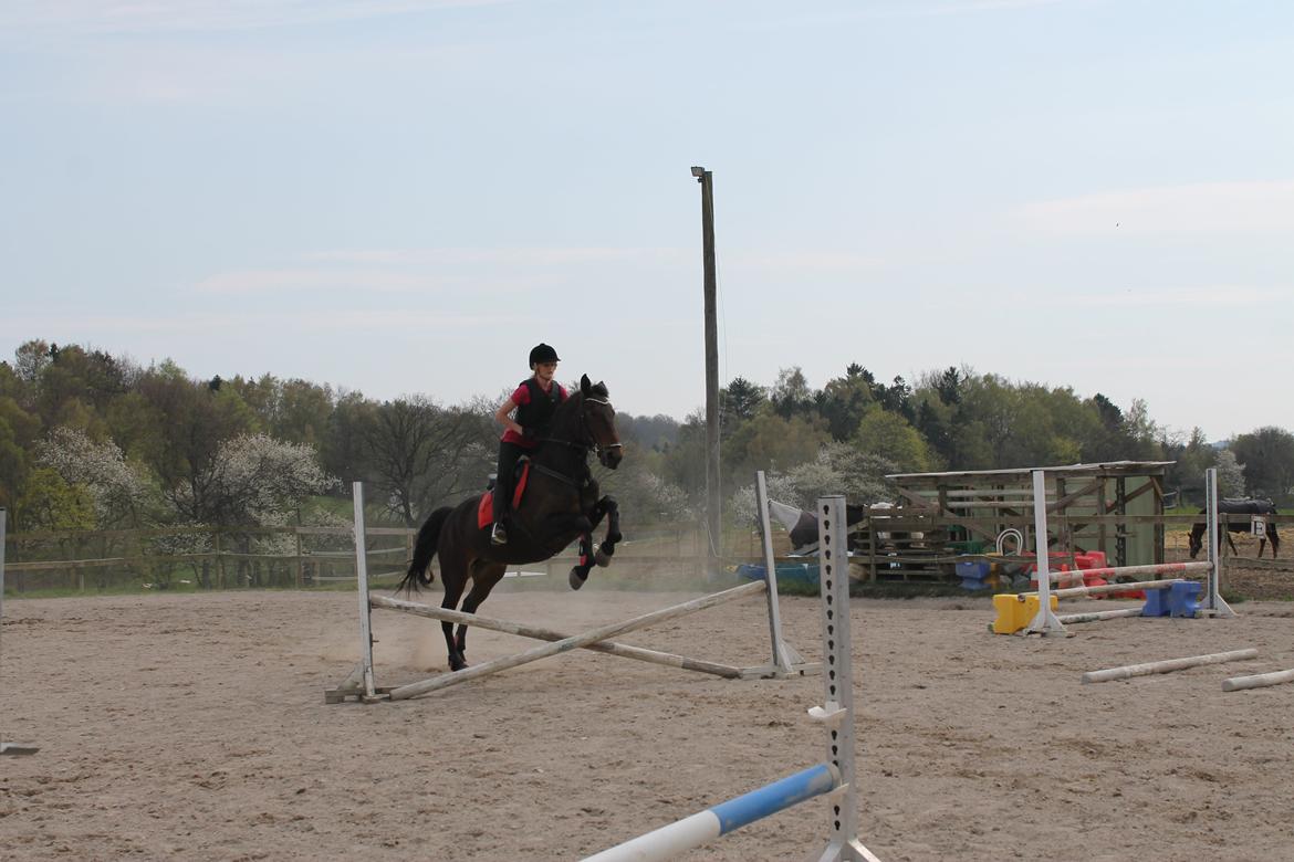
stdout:
POLYGON ((1206 182, 1130 189, 1025 207, 1017 217, 1056 235, 1289 233, 1294 182, 1206 182))

